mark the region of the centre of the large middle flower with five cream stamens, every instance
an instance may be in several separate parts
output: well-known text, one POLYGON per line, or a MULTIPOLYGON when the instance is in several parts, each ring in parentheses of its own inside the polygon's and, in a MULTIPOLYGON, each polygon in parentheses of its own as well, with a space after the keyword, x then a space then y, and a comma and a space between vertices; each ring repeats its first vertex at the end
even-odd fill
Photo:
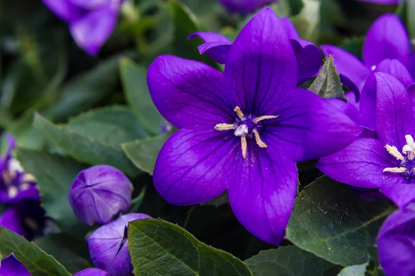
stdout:
POLYGON ((247 114, 243 115, 241 108, 238 106, 234 108, 234 112, 237 113, 237 117, 234 120, 234 124, 217 124, 214 126, 215 130, 223 131, 223 130, 234 130, 234 135, 237 137, 241 137, 241 148, 242 148, 242 156, 246 158, 247 152, 247 143, 246 139, 255 138, 257 145, 261 148, 266 148, 266 144, 261 140, 259 133, 262 130, 262 122, 267 119, 275 119, 278 116, 274 115, 264 115, 259 116, 254 114, 247 114))

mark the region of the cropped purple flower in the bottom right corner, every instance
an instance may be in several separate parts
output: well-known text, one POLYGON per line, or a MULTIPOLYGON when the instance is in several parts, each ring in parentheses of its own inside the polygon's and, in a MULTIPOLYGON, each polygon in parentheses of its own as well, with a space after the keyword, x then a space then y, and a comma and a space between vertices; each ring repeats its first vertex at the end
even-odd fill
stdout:
POLYGON ((376 242, 380 265, 388 276, 415 275, 415 204, 391 214, 376 242))

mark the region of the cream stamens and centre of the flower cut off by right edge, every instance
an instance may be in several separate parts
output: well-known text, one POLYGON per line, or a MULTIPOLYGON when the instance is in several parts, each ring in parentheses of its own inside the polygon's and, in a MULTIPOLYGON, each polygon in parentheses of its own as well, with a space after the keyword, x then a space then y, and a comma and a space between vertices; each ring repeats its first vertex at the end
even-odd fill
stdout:
POLYGON ((395 146, 386 145, 385 148, 393 157, 400 161, 400 164, 396 168, 385 168, 383 172, 400 173, 403 177, 411 178, 415 177, 415 143, 412 135, 405 135, 407 144, 403 146, 403 156, 395 146))

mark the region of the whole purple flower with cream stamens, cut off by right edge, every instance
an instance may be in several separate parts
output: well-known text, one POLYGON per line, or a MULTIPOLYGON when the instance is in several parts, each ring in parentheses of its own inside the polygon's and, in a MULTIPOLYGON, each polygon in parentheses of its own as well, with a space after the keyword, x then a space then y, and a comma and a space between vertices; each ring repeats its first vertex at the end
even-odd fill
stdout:
POLYGON ((329 177, 363 188, 380 188, 401 208, 415 199, 414 110, 398 79, 376 72, 376 137, 360 138, 319 168, 329 177))

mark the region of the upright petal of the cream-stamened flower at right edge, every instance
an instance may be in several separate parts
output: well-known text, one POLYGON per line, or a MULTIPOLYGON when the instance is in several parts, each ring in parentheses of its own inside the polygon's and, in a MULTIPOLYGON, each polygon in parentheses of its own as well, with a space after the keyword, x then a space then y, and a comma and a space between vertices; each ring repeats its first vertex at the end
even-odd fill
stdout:
MULTIPOLYGON (((396 78, 376 72, 376 134, 380 141, 402 150, 405 135, 414 134, 409 94, 396 78)), ((384 145, 385 146, 385 145, 384 145)))

